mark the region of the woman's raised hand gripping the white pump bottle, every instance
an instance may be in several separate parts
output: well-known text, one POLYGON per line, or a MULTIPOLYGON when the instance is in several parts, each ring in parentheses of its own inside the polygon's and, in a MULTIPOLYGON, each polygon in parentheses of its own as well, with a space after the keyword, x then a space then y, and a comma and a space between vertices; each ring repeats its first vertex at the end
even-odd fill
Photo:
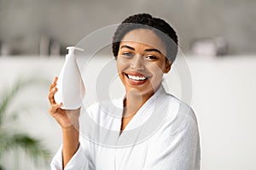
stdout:
POLYGON ((55 77, 54 82, 49 87, 49 114, 55 118, 55 120, 60 124, 62 129, 68 129, 70 127, 79 128, 79 115, 80 108, 77 110, 63 110, 61 109, 61 104, 56 104, 54 95, 57 92, 56 84, 58 77, 55 77))

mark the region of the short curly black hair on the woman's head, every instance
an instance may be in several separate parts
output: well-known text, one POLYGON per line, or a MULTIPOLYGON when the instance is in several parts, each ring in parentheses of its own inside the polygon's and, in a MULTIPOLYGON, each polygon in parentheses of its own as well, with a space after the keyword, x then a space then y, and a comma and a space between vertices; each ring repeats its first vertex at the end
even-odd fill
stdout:
POLYGON ((117 58, 119 44, 125 34, 135 29, 148 29, 154 31, 164 42, 166 48, 166 58, 173 63, 177 56, 177 34, 176 31, 166 23, 165 20, 154 18, 150 14, 134 14, 126 18, 116 29, 113 35, 112 51, 117 58))

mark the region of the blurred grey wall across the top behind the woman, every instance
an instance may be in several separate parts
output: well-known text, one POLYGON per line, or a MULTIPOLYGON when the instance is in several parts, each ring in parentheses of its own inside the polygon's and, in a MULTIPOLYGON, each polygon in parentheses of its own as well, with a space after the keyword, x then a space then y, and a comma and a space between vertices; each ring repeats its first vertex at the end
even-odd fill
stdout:
POLYGON ((41 37, 63 48, 130 14, 148 12, 177 30, 181 48, 201 38, 224 37, 228 54, 254 54, 255 0, 0 0, 0 42, 10 54, 38 54, 41 37))

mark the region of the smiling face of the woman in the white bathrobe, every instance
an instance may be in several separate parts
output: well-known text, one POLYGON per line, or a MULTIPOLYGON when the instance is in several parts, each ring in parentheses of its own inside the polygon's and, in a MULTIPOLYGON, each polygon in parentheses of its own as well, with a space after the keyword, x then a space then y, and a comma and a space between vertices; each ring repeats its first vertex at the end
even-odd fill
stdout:
POLYGON ((119 78, 126 93, 137 89, 152 95, 159 88, 163 74, 171 69, 166 48, 154 31, 137 29, 125 34, 117 56, 119 78))

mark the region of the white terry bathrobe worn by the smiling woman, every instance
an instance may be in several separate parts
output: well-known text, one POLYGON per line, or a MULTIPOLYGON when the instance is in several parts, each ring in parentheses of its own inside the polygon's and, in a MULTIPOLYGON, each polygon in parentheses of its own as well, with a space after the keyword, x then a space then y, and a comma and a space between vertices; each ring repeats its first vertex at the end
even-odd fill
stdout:
MULTIPOLYGON (((80 116, 79 150, 66 170, 197 170, 198 125, 189 105, 158 91, 120 133, 123 99, 98 102, 80 116)), ((62 169, 61 148, 51 162, 62 169)))

